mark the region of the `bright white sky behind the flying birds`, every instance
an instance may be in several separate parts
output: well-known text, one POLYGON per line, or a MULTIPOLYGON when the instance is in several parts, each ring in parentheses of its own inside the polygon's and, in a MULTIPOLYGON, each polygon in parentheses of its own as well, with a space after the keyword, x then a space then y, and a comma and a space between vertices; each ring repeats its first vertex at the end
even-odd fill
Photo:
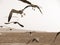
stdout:
POLYGON ((33 30, 33 31, 46 31, 46 32, 59 32, 60 31, 60 1, 59 0, 28 0, 33 4, 38 5, 43 14, 37 8, 32 10, 31 7, 27 8, 21 18, 20 14, 14 13, 10 22, 18 21, 24 28, 15 24, 4 24, 8 22, 8 16, 12 9, 21 10, 28 4, 18 0, 0 0, 0 25, 11 27, 15 29, 33 30))

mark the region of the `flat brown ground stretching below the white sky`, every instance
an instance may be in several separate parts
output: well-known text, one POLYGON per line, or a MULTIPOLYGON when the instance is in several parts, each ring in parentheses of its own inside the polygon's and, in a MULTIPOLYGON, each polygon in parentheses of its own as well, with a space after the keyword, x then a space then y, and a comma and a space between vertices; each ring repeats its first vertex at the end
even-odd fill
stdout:
POLYGON ((29 31, 24 31, 21 29, 10 29, 11 28, 0 28, 0 45, 60 45, 60 35, 53 43, 56 32, 53 33, 33 31, 30 35, 29 31), (39 42, 30 41, 27 44, 27 42, 33 38, 37 38, 39 42))

